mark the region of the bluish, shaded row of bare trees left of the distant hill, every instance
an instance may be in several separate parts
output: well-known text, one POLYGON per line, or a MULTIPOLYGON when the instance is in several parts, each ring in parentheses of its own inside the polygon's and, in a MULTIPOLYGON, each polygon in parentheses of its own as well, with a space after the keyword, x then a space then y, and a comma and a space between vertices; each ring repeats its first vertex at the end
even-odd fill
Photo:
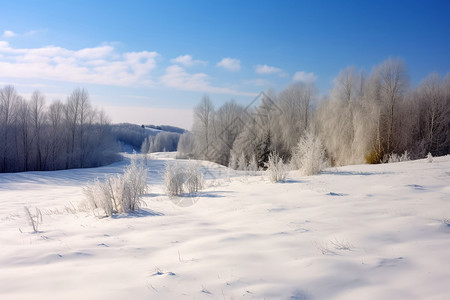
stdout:
POLYGON ((118 159, 108 118, 84 89, 46 104, 35 91, 21 97, 0 89, 0 172, 95 167, 118 159))

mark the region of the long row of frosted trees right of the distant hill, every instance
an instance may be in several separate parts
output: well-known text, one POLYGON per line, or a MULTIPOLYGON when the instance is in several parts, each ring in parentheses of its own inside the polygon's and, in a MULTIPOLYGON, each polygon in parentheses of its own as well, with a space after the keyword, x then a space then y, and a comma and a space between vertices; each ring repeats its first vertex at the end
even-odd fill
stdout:
POLYGON ((332 165, 379 163, 404 151, 411 158, 450 153, 450 75, 431 74, 411 89, 404 62, 388 59, 369 75, 346 68, 329 95, 317 98, 305 83, 262 93, 256 107, 229 101, 216 110, 205 96, 194 109, 193 134, 180 138, 178 157, 229 165, 244 156, 264 167, 275 152, 290 161, 307 133, 332 165))

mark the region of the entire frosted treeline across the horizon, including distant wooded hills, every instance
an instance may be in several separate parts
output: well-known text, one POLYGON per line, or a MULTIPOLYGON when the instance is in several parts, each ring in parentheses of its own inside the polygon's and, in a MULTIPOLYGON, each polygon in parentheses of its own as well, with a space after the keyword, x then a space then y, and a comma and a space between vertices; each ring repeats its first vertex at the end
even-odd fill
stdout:
POLYGON ((120 159, 118 142, 143 153, 178 150, 178 158, 235 169, 265 168, 271 154, 295 163, 299 145, 307 146, 305 138, 331 166, 450 153, 450 74, 432 73, 411 87, 404 61, 389 58, 368 75, 348 67, 333 84, 327 96, 319 97, 313 83, 293 83, 279 93, 261 93, 255 105, 230 100, 217 109, 204 96, 194 108, 192 132, 112 125, 81 88, 65 102, 47 104, 39 91, 27 100, 5 86, 0 89, 0 172, 106 165, 120 159))

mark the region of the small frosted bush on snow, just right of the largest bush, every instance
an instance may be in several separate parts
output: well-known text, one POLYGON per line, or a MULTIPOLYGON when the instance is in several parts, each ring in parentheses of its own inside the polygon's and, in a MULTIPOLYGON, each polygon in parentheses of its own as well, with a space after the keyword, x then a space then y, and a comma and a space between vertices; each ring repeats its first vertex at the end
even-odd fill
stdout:
POLYGON ((188 163, 182 167, 178 163, 167 164, 164 172, 164 182, 169 197, 183 193, 196 193, 203 188, 204 178, 198 164, 188 163))

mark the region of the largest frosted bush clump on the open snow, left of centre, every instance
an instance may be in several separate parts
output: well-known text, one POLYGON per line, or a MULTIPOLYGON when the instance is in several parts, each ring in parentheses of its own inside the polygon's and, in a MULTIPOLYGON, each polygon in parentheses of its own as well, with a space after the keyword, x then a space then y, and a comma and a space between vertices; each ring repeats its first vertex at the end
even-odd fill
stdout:
POLYGON ((98 215, 133 212, 141 207, 142 195, 147 192, 147 170, 137 164, 134 156, 123 175, 96 179, 83 191, 88 206, 98 215))

